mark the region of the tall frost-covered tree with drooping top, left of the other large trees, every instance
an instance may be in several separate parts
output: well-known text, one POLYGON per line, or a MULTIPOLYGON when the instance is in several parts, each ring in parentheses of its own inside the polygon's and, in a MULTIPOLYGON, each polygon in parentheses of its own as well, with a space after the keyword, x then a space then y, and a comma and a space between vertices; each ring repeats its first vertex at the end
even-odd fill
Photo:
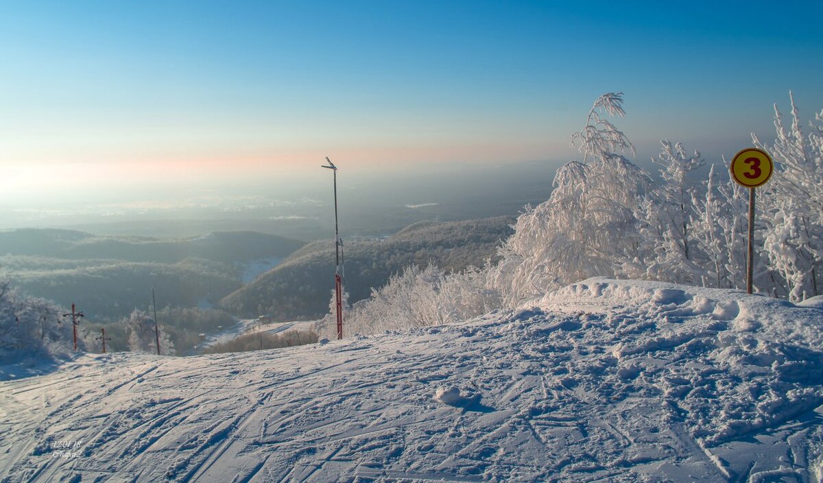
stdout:
POLYGON ((605 117, 622 117, 622 93, 603 94, 572 136, 584 154, 557 170, 549 200, 521 214, 491 273, 508 304, 593 275, 645 267, 636 211, 649 176, 622 154, 628 138, 605 117))

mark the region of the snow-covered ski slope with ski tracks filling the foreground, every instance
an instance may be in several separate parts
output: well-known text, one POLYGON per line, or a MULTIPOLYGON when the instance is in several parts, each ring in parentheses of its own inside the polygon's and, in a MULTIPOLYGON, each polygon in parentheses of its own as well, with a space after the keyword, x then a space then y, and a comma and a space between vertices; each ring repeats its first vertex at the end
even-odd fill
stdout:
POLYGON ((464 324, 85 355, 0 383, 0 481, 821 481, 821 306, 591 278, 464 324))

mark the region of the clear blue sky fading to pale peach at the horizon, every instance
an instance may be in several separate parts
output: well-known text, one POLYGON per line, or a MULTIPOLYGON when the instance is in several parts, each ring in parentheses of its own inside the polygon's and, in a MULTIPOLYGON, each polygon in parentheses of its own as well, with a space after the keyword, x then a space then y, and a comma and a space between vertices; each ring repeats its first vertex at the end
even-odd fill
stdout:
POLYGON ((614 91, 641 161, 823 108, 819 1, 0 4, 3 205, 567 161, 614 91))

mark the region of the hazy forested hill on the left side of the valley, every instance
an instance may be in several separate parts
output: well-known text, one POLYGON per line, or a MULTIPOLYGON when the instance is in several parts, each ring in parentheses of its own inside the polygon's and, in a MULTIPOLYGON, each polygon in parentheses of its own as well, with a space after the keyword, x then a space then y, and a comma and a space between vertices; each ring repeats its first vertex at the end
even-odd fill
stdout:
POLYGON ((276 263, 303 245, 259 232, 164 240, 20 229, 0 232, 0 268, 32 296, 118 320, 146 308, 152 285, 159 308, 212 306, 242 286, 250 262, 276 263))

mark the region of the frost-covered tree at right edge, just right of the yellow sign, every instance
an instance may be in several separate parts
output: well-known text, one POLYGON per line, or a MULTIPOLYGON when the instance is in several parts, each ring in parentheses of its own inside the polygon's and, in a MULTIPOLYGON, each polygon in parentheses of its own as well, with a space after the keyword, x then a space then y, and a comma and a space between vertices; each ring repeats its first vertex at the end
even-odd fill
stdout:
POLYGON ((775 290, 800 301, 823 293, 823 110, 804 132, 791 92, 789 99, 791 126, 774 104, 774 144, 752 139, 776 163, 770 182, 758 189, 764 195, 764 251, 779 278, 775 290))

